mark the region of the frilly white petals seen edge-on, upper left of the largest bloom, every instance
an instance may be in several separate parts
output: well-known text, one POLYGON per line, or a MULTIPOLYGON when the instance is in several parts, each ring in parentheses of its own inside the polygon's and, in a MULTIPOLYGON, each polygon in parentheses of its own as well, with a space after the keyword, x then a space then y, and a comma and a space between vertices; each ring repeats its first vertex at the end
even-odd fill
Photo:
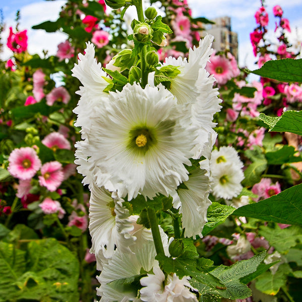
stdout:
POLYGON ((79 53, 78 64, 74 64, 71 69, 72 75, 78 78, 84 87, 80 87, 77 92, 81 96, 78 106, 73 112, 78 115, 74 125, 82 127, 82 137, 89 131, 91 118, 95 115, 95 105, 101 103, 101 98, 108 94, 103 90, 108 86, 108 82, 104 80, 107 73, 102 69, 102 64, 95 59, 95 47, 91 42, 86 43, 85 55, 79 53))

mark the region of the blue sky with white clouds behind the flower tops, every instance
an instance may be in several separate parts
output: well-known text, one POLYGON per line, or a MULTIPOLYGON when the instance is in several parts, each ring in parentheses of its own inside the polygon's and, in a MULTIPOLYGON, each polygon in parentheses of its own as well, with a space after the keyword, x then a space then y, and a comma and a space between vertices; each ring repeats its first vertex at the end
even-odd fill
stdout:
MULTIPOLYGON (((208 19, 222 16, 232 18, 232 29, 238 33, 239 39, 239 63, 241 66, 252 67, 255 58, 252 55, 249 33, 255 28, 254 14, 260 7, 260 0, 188 0, 192 9, 193 17, 206 17, 208 19)), ((55 53, 58 43, 65 40, 63 34, 46 34, 42 30, 31 30, 31 26, 46 20, 56 20, 60 7, 64 0, 42 1, 42 0, 1 0, 1 6, 6 22, 6 31, 3 34, 4 40, 8 35, 9 26, 15 26, 16 11, 21 10, 20 30, 28 29, 30 53, 41 53, 42 49, 49 50, 50 54, 55 53)), ((284 12, 284 18, 289 19, 292 28, 292 41, 302 41, 302 1, 301 0, 266 0, 269 13, 269 28, 273 36, 275 20, 272 8, 280 5, 284 12), (297 35, 296 35, 297 32, 297 35)), ((9 52, 0 56, 8 56, 9 52)))

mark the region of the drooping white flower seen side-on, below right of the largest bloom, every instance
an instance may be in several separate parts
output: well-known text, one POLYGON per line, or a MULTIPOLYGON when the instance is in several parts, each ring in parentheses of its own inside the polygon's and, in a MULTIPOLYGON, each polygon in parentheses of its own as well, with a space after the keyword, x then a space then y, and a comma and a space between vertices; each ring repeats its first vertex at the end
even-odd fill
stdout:
POLYGON ((208 199, 209 192, 210 179, 207 171, 196 169, 189 175, 189 180, 177 189, 177 193, 171 194, 173 206, 180 207, 180 213, 182 213, 185 237, 194 239, 196 239, 196 235, 202 237, 201 232, 207 222, 207 208, 211 204, 208 199))

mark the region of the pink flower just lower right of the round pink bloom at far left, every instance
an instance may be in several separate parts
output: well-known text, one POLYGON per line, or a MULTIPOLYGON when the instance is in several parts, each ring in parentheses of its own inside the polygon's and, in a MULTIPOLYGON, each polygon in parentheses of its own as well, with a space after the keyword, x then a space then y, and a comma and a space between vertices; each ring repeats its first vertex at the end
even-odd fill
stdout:
POLYGON ((61 163, 54 161, 48 162, 41 167, 39 176, 40 186, 46 187, 50 192, 55 191, 64 179, 61 163))

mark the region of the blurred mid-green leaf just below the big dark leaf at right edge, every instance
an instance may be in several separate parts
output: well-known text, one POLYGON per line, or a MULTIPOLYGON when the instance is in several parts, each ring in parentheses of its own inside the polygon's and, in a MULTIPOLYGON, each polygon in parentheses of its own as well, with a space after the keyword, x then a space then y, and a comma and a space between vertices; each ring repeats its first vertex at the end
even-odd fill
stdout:
POLYGON ((274 229, 268 226, 260 226, 259 234, 280 253, 286 253, 291 247, 302 243, 302 228, 296 225, 283 230, 278 225, 274 229))

